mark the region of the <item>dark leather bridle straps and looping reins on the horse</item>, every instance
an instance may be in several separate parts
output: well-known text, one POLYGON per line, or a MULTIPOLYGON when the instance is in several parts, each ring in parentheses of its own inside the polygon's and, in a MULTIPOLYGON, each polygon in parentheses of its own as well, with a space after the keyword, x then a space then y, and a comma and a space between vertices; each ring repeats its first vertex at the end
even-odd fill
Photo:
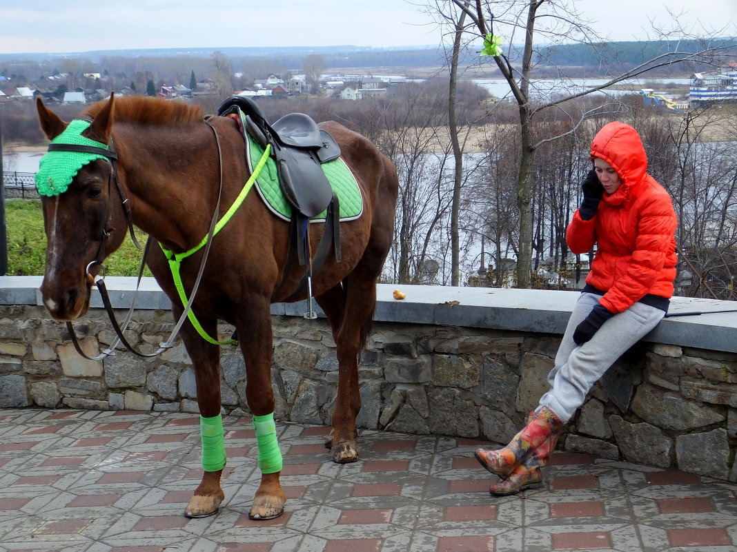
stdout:
MULTIPOLYGON (((205 119, 205 123, 212 129, 212 132, 215 136, 215 141, 217 143, 217 157, 218 157, 218 166, 220 167, 220 188, 217 194, 217 204, 215 205, 214 209, 214 215, 212 218, 212 223, 209 227, 209 232, 206 236, 206 239, 204 241, 203 247, 203 257, 202 261, 200 263, 200 269, 197 275, 197 279, 195 280, 195 285, 192 288, 192 293, 189 296, 189 300, 186 302, 186 305, 184 306, 184 311, 182 312, 181 316, 178 319, 178 322, 176 323, 174 329, 172 330, 172 333, 170 334, 169 338, 165 342, 161 342, 158 345, 158 349, 154 351, 153 353, 142 353, 139 350, 136 350, 133 348, 133 346, 128 342, 128 339, 125 339, 125 330, 128 328, 128 324, 130 323, 130 319, 133 317, 133 308, 136 305, 136 298, 138 297, 139 293, 139 287, 141 285, 141 280, 143 277, 144 269, 146 266, 146 259, 148 257, 148 252, 150 250, 150 246, 153 242, 153 238, 151 236, 148 237, 146 241, 146 246, 144 247, 143 252, 143 258, 141 261, 141 266, 139 268, 139 274, 138 279, 136 281, 136 291, 133 294, 133 301, 130 304, 130 308, 128 308, 128 314, 125 317, 125 321, 122 325, 119 325, 116 316, 115 311, 113 310, 113 305, 110 300, 110 296, 108 294, 108 289, 105 286, 105 271, 102 270, 102 276, 97 275, 93 276, 90 273, 90 268, 94 264, 99 265, 102 268, 102 261, 100 260, 100 255, 102 253, 102 244, 105 242, 106 239, 108 239, 111 235, 111 229, 110 228, 104 228, 102 230, 101 236, 99 237, 99 247, 97 250, 97 255, 94 261, 91 261, 91 263, 88 263, 87 268, 85 270, 85 277, 87 280, 91 283, 93 286, 97 286, 97 291, 99 291, 99 295, 102 298, 102 305, 105 307, 105 311, 108 314, 108 318, 110 319, 111 324, 113 325, 113 330, 116 333, 116 339, 113 340, 113 342, 110 344, 110 346, 104 350, 101 350, 99 355, 97 356, 89 356, 87 355, 80 345, 79 339, 77 338, 77 333, 74 331, 74 326, 71 325, 71 322, 66 322, 66 328, 69 330, 69 335, 71 336, 71 342, 74 344, 74 349, 77 350, 77 353, 82 355, 84 358, 87 358, 91 361, 99 361, 103 358, 106 358, 108 356, 115 355, 115 349, 118 346, 118 344, 122 344, 126 349, 128 349, 131 353, 134 353, 135 355, 141 356, 141 357, 153 357, 161 355, 161 353, 164 353, 164 351, 171 349, 174 347, 174 342, 179 334, 179 330, 181 330, 182 325, 184 325, 184 321, 187 319, 187 317, 192 317, 192 314, 190 314, 190 311, 192 310, 192 304, 195 301, 195 295, 197 294, 197 291, 200 286, 200 280, 202 278, 202 274, 205 269, 205 263, 207 261, 210 247, 212 245, 212 238, 215 233, 215 227, 217 225, 217 215, 220 213, 220 198, 223 194, 223 151, 220 147, 220 138, 217 135, 217 130, 212 126, 212 124, 205 119)), ((119 176, 118 176, 118 167, 117 167, 117 159, 118 155, 113 149, 113 141, 111 138, 109 149, 104 148, 97 148, 94 146, 80 146, 75 144, 49 144, 49 151, 56 150, 56 151, 67 151, 67 152, 82 152, 82 153, 94 153, 97 155, 102 155, 105 158, 108 158, 111 163, 111 174, 108 178, 108 198, 111 198, 111 194, 109 191, 112 188, 112 182, 116 184, 116 188, 118 190, 118 193, 120 195, 123 210, 125 212, 125 216, 128 219, 128 229, 130 232, 130 238, 133 240, 133 244, 136 244, 136 247, 138 249, 141 249, 141 244, 139 244, 139 241, 136 239, 136 234, 133 230, 133 216, 130 213, 130 205, 128 205, 128 197, 125 195, 125 190, 123 189, 122 183, 120 182, 119 176)), ((108 222, 110 220, 109 215, 109 205, 108 205, 108 222)))

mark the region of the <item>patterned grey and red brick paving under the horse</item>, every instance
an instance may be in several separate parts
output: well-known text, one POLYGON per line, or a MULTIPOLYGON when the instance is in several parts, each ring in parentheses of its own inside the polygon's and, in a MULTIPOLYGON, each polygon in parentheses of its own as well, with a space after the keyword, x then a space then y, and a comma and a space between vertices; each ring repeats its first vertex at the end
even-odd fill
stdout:
POLYGON ((726 481, 556 453, 544 488, 494 498, 472 458, 479 442, 364 431, 360 461, 338 465, 328 428, 283 423, 287 510, 257 523, 251 420, 224 423, 226 500, 190 520, 198 416, 0 410, 0 552, 737 550, 726 481))

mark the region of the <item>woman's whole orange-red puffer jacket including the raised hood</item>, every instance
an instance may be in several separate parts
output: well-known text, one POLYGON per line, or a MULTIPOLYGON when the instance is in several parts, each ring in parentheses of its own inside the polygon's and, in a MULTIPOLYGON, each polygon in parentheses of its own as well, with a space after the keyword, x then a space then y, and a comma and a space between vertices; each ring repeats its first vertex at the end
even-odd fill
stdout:
POLYGON ((646 294, 669 299, 678 261, 676 213, 666 189, 646 173, 640 136, 629 125, 609 123, 595 136, 591 155, 607 161, 623 183, 614 194, 604 192, 593 219, 581 219, 576 210, 567 227, 574 253, 598 243, 586 283, 605 292, 601 305, 614 313, 646 294))

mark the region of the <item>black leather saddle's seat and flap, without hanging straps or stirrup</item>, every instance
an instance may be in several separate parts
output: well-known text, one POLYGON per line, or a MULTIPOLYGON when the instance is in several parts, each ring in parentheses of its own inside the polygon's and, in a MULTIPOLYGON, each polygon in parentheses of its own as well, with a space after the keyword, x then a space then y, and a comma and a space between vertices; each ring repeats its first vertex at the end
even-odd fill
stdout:
POLYGON ((226 99, 217 114, 228 115, 236 107, 244 115, 248 135, 263 148, 271 144, 279 185, 290 205, 307 218, 322 213, 333 192, 320 165, 340 157, 338 143, 304 113, 290 113, 269 124, 261 107, 245 96, 226 99))

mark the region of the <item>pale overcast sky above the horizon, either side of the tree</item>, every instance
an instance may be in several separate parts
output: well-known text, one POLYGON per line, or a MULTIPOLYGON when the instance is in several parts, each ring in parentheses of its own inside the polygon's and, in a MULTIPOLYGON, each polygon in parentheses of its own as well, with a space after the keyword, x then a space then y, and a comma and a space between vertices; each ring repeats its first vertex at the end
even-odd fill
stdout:
MULTIPOLYGON (((561 0, 558 0, 561 1, 561 0)), ((565 0, 563 0, 565 1, 565 0)), ((567 0, 570 1, 570 0, 567 0)), ((0 0, 0 53, 232 46, 419 46, 441 41, 423 0, 0 0), (10 6, 12 7, 8 7, 10 6), (255 4, 255 5, 254 5, 255 4)), ((602 37, 669 26, 661 0, 575 0, 602 37)), ((688 30, 737 36, 737 0, 672 0, 688 30)))

